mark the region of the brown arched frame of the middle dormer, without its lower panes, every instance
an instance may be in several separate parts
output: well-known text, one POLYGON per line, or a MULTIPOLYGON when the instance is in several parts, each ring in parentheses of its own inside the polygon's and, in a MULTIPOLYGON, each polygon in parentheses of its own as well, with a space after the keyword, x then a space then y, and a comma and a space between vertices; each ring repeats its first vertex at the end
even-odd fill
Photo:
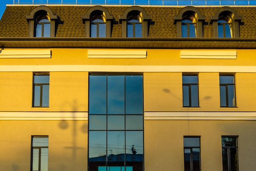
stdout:
MULTIPOLYGON (((128 23, 129 18, 137 17, 138 21, 137 24, 141 23, 141 37, 148 37, 148 28, 149 28, 149 21, 150 21, 150 15, 146 13, 146 11, 138 6, 132 6, 128 7, 123 15, 119 15, 119 20, 122 24, 122 37, 128 37, 128 25, 132 24, 133 26, 133 37, 135 36, 135 22, 128 23)), ((140 36, 139 36, 140 37, 140 36)))

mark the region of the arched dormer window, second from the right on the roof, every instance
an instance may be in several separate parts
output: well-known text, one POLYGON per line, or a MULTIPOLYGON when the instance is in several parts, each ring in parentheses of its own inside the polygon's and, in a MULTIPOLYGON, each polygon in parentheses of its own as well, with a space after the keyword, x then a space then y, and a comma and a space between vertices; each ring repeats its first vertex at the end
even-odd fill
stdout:
POLYGON ((174 16, 177 37, 203 37, 205 16, 195 7, 184 7, 174 16))

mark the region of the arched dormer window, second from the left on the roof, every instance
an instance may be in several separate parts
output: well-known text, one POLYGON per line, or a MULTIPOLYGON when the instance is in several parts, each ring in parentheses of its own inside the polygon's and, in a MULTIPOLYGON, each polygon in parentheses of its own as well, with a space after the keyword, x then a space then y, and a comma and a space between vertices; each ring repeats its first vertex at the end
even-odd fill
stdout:
POLYGON ((111 37, 113 15, 104 7, 90 8, 82 19, 85 24, 85 37, 111 37))

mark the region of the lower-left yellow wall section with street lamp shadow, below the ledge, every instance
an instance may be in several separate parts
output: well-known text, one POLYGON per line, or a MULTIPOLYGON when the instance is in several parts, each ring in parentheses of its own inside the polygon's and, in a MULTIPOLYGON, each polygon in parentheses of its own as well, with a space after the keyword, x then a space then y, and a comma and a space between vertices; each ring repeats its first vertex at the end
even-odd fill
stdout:
POLYGON ((0 121, 0 166, 29 171, 31 136, 49 136, 49 171, 87 170, 87 121, 0 121))

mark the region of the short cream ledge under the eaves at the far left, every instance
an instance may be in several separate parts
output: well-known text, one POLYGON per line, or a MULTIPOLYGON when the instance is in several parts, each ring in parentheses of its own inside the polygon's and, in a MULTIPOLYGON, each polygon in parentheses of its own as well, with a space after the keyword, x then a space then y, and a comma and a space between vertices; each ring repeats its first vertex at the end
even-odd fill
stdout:
POLYGON ((0 58, 51 58, 49 49, 3 49, 0 58))

